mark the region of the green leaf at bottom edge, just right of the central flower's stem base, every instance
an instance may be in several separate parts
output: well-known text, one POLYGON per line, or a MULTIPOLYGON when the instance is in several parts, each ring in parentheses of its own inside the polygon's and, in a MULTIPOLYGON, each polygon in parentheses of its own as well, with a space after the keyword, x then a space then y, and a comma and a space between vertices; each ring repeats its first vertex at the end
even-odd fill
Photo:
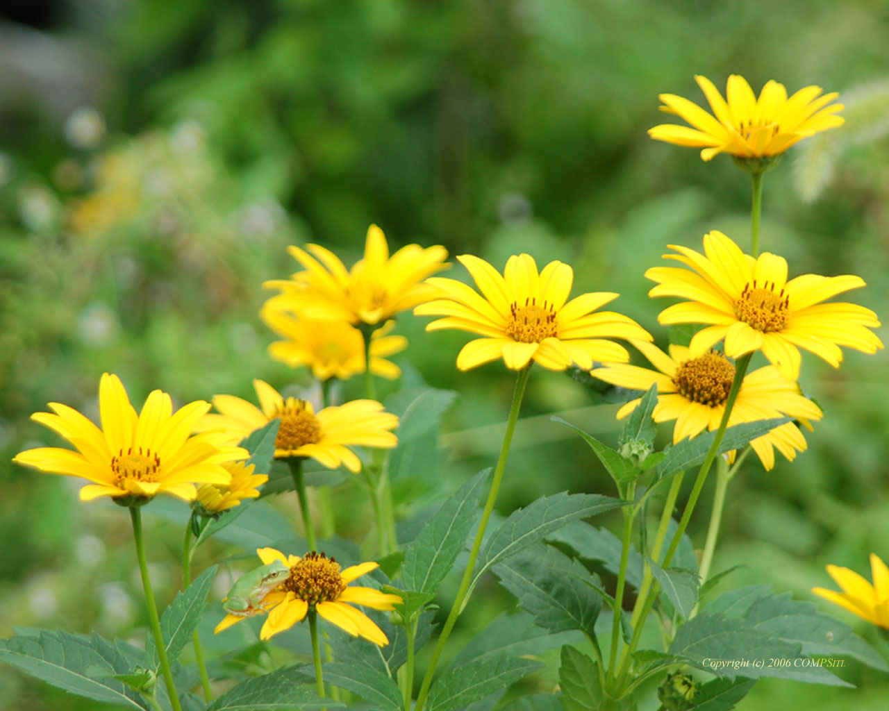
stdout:
POLYGON ((428 711, 450 711, 484 699, 543 667, 532 659, 492 657, 448 669, 429 690, 428 711))

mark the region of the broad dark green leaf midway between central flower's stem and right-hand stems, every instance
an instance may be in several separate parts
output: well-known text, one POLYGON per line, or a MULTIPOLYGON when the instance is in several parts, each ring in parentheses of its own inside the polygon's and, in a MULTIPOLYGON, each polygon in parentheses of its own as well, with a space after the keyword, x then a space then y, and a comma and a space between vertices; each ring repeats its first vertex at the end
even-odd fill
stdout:
POLYGON ((596 590, 601 582, 578 561, 556 548, 538 545, 498 563, 493 572, 540 627, 596 635, 594 627, 602 609, 596 590))

